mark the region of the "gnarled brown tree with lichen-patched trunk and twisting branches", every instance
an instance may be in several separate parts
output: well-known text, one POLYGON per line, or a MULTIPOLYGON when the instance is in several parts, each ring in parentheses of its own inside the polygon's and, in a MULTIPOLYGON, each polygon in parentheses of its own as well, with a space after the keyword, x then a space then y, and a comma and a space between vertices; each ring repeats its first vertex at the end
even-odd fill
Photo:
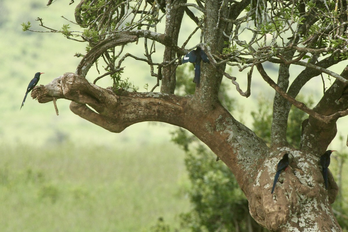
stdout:
MULTIPOLYGON (((110 5, 119 4, 119 7, 123 9, 123 11, 117 11, 117 14, 120 14, 119 17, 127 15, 128 1, 111 2, 110 5)), ((343 59, 335 55, 337 53, 335 49, 340 49, 339 53, 344 53, 346 51, 343 49, 346 48, 329 47, 323 50, 321 45, 316 47, 313 43, 311 46, 304 46, 304 50, 303 47, 297 47, 299 38, 303 34, 309 33, 310 24, 314 24, 320 19, 313 10, 306 13, 306 19, 303 19, 302 24, 293 22, 295 27, 292 33, 295 39, 290 38, 284 46, 271 43, 271 45, 264 45, 256 50, 253 48, 256 45, 255 40, 253 43, 247 43, 244 39, 239 39, 239 34, 242 33, 239 30, 244 30, 242 29, 243 24, 240 22, 247 22, 246 18, 254 20, 252 24, 255 24, 255 28, 260 29, 259 25, 265 22, 263 17, 267 14, 261 9, 269 6, 276 7, 277 5, 274 4, 277 3, 284 5, 284 9, 290 7, 295 11, 300 9, 298 8, 300 4, 304 4, 302 1, 299 1, 300 3, 288 1, 284 3, 281 1, 252 2, 251 0, 242 0, 239 2, 222 1, 217 4, 217 1, 206 0, 205 5, 200 1, 197 1, 196 5, 181 0, 158 2, 149 0, 145 2, 151 8, 148 12, 152 13, 149 15, 155 15, 153 16, 155 19, 157 17, 158 21, 156 19, 156 22, 160 21, 158 14, 161 11, 165 12, 164 34, 149 31, 149 26, 147 30, 128 26, 124 27, 126 28, 124 31, 114 30, 109 37, 96 43, 92 43, 90 39, 82 36, 85 41, 89 42, 91 49, 79 64, 77 73, 65 73, 46 86, 36 87, 32 91, 32 97, 37 98, 40 103, 50 102, 53 97, 68 99, 71 101, 70 109, 72 112, 114 133, 120 133, 128 126, 142 121, 161 121, 185 128, 207 144, 231 169, 249 201, 251 215, 260 225, 271 231, 341 231, 330 206, 336 198, 338 186, 330 173, 329 189, 325 189, 318 160, 337 132, 337 119, 348 114, 346 81, 348 80, 348 72, 343 70, 341 74, 331 74, 337 79, 324 92, 321 101, 314 109, 308 109, 294 98, 311 78, 326 72, 327 67, 343 59), (252 5, 250 5, 251 3, 252 5), (254 11, 249 10, 246 16, 240 16, 247 6, 250 6, 254 11), (195 12, 192 12, 189 7, 201 10, 204 14, 203 19, 195 17, 195 12), (200 45, 208 54, 211 62, 201 64, 201 86, 196 88, 195 95, 182 97, 173 93, 176 83, 175 69, 180 64, 177 63, 177 60, 180 60, 180 57, 188 51, 184 47, 177 46, 184 12, 192 19, 192 23, 197 24, 197 30, 203 29, 202 38, 204 41, 200 41, 200 45), (135 28, 137 30, 133 30, 135 28), (231 35, 230 40, 229 35, 231 35), (161 93, 136 93, 122 89, 116 91, 111 87, 104 89, 85 79, 89 68, 101 56, 106 63, 109 62, 110 72, 114 73, 119 70, 122 59, 124 60, 130 55, 127 53, 128 55, 122 57, 118 65, 112 66, 111 64, 114 64, 115 60, 107 58, 107 53, 110 53, 110 49, 116 46, 136 42, 139 38, 165 45, 162 63, 152 61, 151 51, 146 51, 147 58, 145 59, 145 62, 150 66, 158 66, 158 73, 154 73, 152 70, 151 75, 157 77, 158 80, 163 77, 161 93), (231 38, 233 39, 231 40, 231 38), (224 41, 228 41, 228 43, 224 43, 224 41), (242 49, 232 49, 226 55, 224 49, 231 49, 232 43, 236 43, 242 49), (325 52, 327 56, 319 60, 318 55, 322 52, 325 52), (249 56, 243 58, 242 55, 245 54, 249 56), (312 56, 311 60, 307 62, 308 64, 321 69, 313 69, 313 66, 306 63, 306 68, 290 83, 290 69, 294 65, 303 66, 305 62, 300 61, 299 57, 302 58, 304 54, 312 56), (264 70, 263 62, 265 61, 280 64, 277 83, 264 70), (240 70, 255 66, 262 78, 276 90, 270 147, 252 130, 237 121, 220 104, 217 93, 223 77, 231 79, 239 93, 242 93, 236 78, 224 71, 227 64, 237 66, 240 70), (308 120, 303 122, 301 148, 297 150, 291 147, 286 140, 287 117, 291 104, 310 114, 308 120), (281 175, 280 183, 276 185, 275 194, 270 194, 277 162, 284 153, 290 154, 290 166, 281 175)), ((341 2, 346 6, 346 1, 341 2)), ((88 15, 82 16, 84 12, 82 12, 81 6, 84 3, 85 1, 81 1, 76 8, 76 21, 83 27, 92 26, 93 23, 88 24, 88 20, 82 20, 83 17, 88 17, 88 15)), ((317 7, 323 7, 324 3, 317 1, 317 5, 319 5, 317 7)), ((325 6, 324 9, 326 9, 325 6)), ((145 14, 141 10, 135 9, 135 11, 139 11, 139 14, 145 14)), ((299 12, 296 17, 301 17, 303 14, 303 12, 299 12)), ((346 17, 347 15, 342 14, 337 18, 338 22, 342 22, 343 28, 337 27, 336 37, 331 34, 335 39, 345 35, 346 24, 343 22, 347 22, 347 20, 345 21, 346 17)), ((109 21, 105 19, 102 23, 106 24, 107 22, 109 21)), ((117 24, 118 22, 121 22, 121 19, 113 23, 117 24)), ((138 26, 141 23, 143 21, 138 26)), ((147 24, 144 23, 144 25, 147 24)), ((251 25, 244 24, 244 27, 250 29, 251 25)), ((253 36, 256 38, 258 35, 263 38, 267 33, 259 32, 253 36)), ((310 39, 311 35, 307 35, 310 39)), ((317 36, 321 37, 323 34, 317 36)), ((264 38, 266 41, 266 37, 264 38)), ((306 41, 308 43, 308 40, 306 41)), ((147 49, 147 45, 145 47, 147 49)), ((141 60, 140 58, 136 59, 141 60)), ((248 81, 250 80, 251 73, 250 78, 248 76, 248 81)), ((246 95, 248 96, 244 93, 244 96, 246 95)))

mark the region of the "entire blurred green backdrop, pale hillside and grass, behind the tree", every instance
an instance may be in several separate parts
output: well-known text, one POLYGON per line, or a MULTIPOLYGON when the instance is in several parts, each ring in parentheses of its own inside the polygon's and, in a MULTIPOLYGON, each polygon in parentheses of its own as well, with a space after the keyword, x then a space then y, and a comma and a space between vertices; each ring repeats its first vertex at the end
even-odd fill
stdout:
MULTIPOLYGON (((36 72, 45 73, 39 85, 46 85, 65 72, 75 72, 81 58, 74 54, 85 52, 85 43, 58 33, 22 32, 21 24, 28 21, 32 30, 45 30, 37 17, 54 29, 63 24, 74 27, 60 17, 74 20, 78 2, 69 2, 46 7, 44 0, 0 1, 0 231, 141 231, 158 217, 177 225, 177 215, 191 206, 184 152, 171 143, 174 126, 144 122, 110 133, 70 112, 69 101, 57 101, 57 116, 52 102, 39 104, 30 94, 19 111, 36 72)), ((187 48, 192 46, 195 40, 187 48)), ((127 47, 141 54, 138 48, 127 47)), ((157 58, 160 62, 160 53, 157 58)), ((124 78, 130 77, 139 91, 145 91, 145 84, 149 89, 155 85, 146 64, 127 59, 125 66, 124 78)), ((276 66, 265 66, 276 74, 276 66)), ((246 89, 246 72, 230 72, 246 89)), ((97 76, 92 68, 87 79, 92 82, 97 76)), ((224 82, 238 102, 233 114, 252 127, 250 112, 257 99, 272 98, 274 91, 257 75, 249 98, 240 97, 229 80, 224 82)), ((112 82, 103 78, 97 84, 107 87, 112 82)), ((322 94, 321 78, 311 80, 301 93, 316 102, 322 94)), ((339 135, 347 136, 346 118, 339 120, 338 128, 339 135)), ((338 137, 329 149, 343 152, 346 147, 338 137)))

